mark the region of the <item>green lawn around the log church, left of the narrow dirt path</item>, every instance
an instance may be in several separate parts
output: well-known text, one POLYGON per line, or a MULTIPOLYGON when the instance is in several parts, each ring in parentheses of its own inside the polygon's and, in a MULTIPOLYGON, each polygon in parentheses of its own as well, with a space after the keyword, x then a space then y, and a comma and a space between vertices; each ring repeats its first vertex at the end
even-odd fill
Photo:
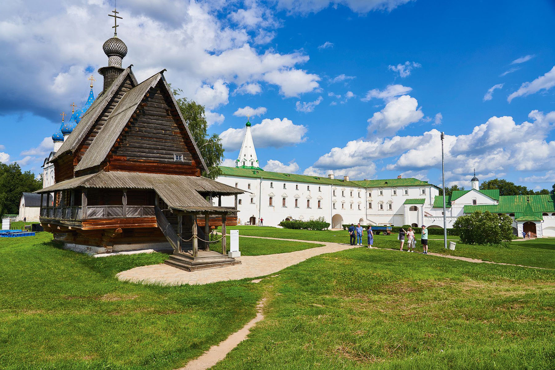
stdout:
POLYGON ((120 282, 117 272, 167 256, 93 258, 51 239, 0 239, 2 369, 178 368, 255 316, 259 285, 120 282))

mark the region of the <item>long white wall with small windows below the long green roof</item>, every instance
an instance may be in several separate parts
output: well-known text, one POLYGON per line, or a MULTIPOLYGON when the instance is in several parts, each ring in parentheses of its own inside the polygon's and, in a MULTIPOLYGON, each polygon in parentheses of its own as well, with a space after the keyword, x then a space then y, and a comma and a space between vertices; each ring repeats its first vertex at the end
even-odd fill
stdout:
MULTIPOLYGON (((414 222, 421 224, 422 208, 430 207, 438 192, 431 185, 365 189, 357 186, 297 183, 296 181, 287 180, 260 180, 239 176, 220 176, 217 181, 229 186, 235 187, 236 185, 236 187, 245 191, 245 194, 238 196, 238 200, 240 200, 238 219, 241 225, 249 223, 251 217, 255 218, 256 224, 258 224, 261 217, 266 226, 278 226, 286 218, 307 221, 324 217, 326 222, 332 224, 330 227, 341 224, 357 224, 358 222, 371 225, 392 224, 401 226, 407 223, 405 222, 405 205, 403 204, 405 200, 425 198, 425 207, 418 205, 418 211, 409 212, 410 214, 415 213, 416 215, 413 216, 415 218, 414 222), (422 189, 425 190, 425 194, 422 194, 422 189), (380 190, 382 190, 382 195, 379 194, 380 190), (393 195, 393 190, 396 190, 396 195, 393 195), (407 194, 405 194, 405 190, 407 194), (269 205, 270 196, 273 197, 272 206, 269 205), (282 206, 284 197, 285 206, 282 206), (251 199, 253 202, 251 202, 251 199), (297 207, 295 207, 295 199, 298 200, 297 207), (310 200, 310 208, 307 207, 307 200, 310 200), (319 200, 321 202, 320 208, 317 206, 319 200), (260 202, 261 208, 259 208, 260 202), (372 209, 368 208, 369 202, 372 202, 372 209), (379 209, 380 204, 384 205, 384 209, 379 209), (389 204, 391 204, 391 210, 388 209, 389 204)), ((222 198, 222 206, 233 207, 234 204, 233 196, 222 198)))

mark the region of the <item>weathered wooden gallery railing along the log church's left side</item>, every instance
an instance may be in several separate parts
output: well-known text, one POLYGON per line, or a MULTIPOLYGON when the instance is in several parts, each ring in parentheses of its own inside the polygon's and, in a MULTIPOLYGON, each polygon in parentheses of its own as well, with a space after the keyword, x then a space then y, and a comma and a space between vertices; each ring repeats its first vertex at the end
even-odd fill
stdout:
POLYGON ((59 220, 154 217, 154 206, 73 206, 42 208, 41 217, 59 220))

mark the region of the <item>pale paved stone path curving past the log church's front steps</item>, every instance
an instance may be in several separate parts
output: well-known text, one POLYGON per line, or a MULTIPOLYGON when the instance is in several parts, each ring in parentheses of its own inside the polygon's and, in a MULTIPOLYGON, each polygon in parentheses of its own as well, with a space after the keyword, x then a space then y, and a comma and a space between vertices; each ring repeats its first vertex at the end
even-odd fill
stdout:
MULTIPOLYGON (((275 238, 264 238, 275 239, 275 238)), ((282 239, 301 241, 293 239, 282 239)), ((280 253, 265 256, 243 256, 239 257, 241 265, 210 268, 200 271, 183 271, 160 263, 159 265, 140 266, 131 270, 118 273, 117 278, 122 281, 141 282, 147 284, 162 285, 202 285, 216 281, 239 280, 245 277, 259 277, 270 275, 283 270, 285 267, 296 265, 310 257, 351 249, 356 246, 349 244, 327 243, 319 241, 305 241, 316 244, 324 244, 323 247, 315 247, 302 251, 280 253)))

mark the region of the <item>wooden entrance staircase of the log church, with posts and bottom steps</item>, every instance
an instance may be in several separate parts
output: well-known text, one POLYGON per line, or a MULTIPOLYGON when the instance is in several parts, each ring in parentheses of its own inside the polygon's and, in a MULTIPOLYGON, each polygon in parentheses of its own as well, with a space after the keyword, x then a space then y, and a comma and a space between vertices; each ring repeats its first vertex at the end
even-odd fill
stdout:
MULTIPOLYGON (((164 214, 158 207, 155 209, 158 227, 168 239, 173 247, 173 255, 164 263, 168 266, 180 268, 185 271, 206 270, 207 268, 217 268, 225 266, 240 265, 241 261, 230 258, 227 255, 215 251, 199 250, 198 256, 193 256, 193 216, 183 216, 183 231, 181 238, 178 235, 178 217, 174 214, 164 214), (189 240, 191 239, 191 240, 189 240), (188 240, 188 241, 184 241, 188 240), (178 246, 181 246, 179 252, 178 246)), ((204 235, 204 231, 198 227, 197 234, 200 239, 208 240, 204 235)), ((199 240, 199 246, 203 246, 204 242, 199 240)))

